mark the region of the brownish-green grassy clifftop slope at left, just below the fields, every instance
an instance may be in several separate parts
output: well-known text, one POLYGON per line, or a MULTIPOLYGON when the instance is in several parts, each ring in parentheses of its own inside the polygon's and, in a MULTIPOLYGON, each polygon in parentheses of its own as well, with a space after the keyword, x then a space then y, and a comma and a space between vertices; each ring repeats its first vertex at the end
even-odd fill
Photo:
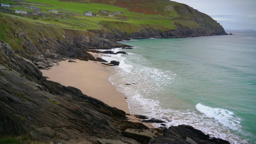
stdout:
POLYGON ((10 46, 17 50, 23 50, 21 46, 24 45, 26 34, 34 44, 38 43, 38 38, 47 39, 48 36, 57 40, 63 40, 63 35, 70 32, 74 35, 92 35, 92 33, 80 30, 64 30, 56 26, 49 26, 43 24, 35 24, 34 22, 27 22, 16 18, 8 18, 0 16, 0 39, 10 44, 10 46))

